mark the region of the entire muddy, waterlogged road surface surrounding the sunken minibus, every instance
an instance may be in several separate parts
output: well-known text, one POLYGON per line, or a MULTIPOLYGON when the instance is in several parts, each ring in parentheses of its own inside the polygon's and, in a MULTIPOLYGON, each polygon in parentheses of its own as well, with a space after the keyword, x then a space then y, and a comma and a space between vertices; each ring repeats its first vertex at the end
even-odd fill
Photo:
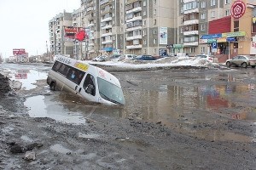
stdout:
POLYGON ((48 65, 1 66, 26 82, 0 100, 0 169, 256 165, 255 69, 111 71, 126 105, 110 106, 50 91, 48 65))

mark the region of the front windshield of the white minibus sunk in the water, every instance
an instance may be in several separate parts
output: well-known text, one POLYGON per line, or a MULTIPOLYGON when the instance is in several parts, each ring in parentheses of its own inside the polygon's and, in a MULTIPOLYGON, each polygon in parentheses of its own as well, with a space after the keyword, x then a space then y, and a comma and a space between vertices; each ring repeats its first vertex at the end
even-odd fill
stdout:
POLYGON ((99 93, 103 99, 113 102, 118 105, 125 105, 125 98, 122 88, 108 82, 100 77, 97 77, 99 93))

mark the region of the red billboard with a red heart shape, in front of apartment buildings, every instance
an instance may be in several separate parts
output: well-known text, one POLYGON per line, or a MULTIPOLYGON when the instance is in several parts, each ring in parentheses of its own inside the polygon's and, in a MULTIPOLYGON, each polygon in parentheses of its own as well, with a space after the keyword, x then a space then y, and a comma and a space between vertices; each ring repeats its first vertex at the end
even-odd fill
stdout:
MULTIPOLYGON (((64 30, 65 40, 73 42, 74 40, 78 39, 80 31, 84 31, 84 28, 77 27, 77 26, 63 26, 63 30, 64 30)), ((86 32, 86 31, 84 31, 84 32, 86 32)), ((81 35, 81 38, 82 37, 83 36, 81 35)), ((85 35, 85 37, 86 37, 86 35, 85 35)), ((80 38, 79 38, 79 41, 81 41, 80 38)))

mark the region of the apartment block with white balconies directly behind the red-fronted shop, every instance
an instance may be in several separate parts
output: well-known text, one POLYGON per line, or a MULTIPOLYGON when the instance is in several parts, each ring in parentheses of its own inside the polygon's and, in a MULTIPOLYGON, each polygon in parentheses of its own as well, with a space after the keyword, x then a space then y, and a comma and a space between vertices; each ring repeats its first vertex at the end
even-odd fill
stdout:
POLYGON ((180 0, 178 44, 175 53, 183 52, 191 56, 209 54, 211 41, 201 41, 208 34, 209 22, 230 15, 230 0, 180 0))

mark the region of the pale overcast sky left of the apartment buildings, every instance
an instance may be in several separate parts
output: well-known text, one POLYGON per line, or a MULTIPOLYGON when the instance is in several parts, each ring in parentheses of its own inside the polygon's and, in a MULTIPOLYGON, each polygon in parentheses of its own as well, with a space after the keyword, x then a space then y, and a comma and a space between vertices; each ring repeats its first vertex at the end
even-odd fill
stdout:
POLYGON ((9 57, 13 48, 29 56, 46 53, 49 20, 79 7, 80 0, 0 0, 0 54, 9 57))

